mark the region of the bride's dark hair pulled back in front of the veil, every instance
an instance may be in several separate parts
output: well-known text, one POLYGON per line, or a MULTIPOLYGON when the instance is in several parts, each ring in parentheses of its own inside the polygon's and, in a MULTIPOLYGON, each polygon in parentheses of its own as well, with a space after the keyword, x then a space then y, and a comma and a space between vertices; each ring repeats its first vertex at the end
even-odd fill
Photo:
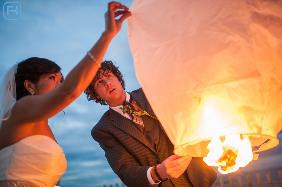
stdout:
POLYGON ((29 95, 24 87, 24 81, 29 80, 36 84, 40 76, 46 73, 58 73, 61 67, 46 58, 31 57, 18 64, 17 73, 15 74, 17 101, 29 95))

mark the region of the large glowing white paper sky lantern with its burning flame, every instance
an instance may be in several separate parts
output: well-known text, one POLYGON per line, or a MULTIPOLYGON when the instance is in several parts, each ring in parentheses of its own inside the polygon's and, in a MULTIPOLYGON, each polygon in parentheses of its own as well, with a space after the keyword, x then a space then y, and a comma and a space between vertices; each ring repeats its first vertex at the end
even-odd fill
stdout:
POLYGON ((137 79, 175 147, 223 173, 279 144, 282 1, 135 0, 137 79))

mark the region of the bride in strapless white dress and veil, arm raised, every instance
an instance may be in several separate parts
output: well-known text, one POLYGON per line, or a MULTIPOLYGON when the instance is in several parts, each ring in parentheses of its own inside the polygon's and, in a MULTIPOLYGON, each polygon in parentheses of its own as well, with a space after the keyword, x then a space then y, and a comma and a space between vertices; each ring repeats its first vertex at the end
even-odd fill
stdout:
POLYGON ((8 70, 0 87, 0 186, 53 187, 65 173, 65 155, 48 118, 87 88, 109 43, 130 15, 127 7, 110 2, 105 31, 65 80, 60 66, 44 58, 32 57, 8 70))

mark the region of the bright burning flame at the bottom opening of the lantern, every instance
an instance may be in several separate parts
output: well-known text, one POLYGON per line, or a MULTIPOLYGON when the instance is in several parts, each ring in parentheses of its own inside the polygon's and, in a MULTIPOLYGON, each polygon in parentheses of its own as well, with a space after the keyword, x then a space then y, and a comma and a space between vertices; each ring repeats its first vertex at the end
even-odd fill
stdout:
POLYGON ((214 137, 207 148, 210 152, 203 160, 209 166, 218 167, 222 174, 235 172, 253 160, 248 135, 226 135, 224 142, 219 137, 214 137))

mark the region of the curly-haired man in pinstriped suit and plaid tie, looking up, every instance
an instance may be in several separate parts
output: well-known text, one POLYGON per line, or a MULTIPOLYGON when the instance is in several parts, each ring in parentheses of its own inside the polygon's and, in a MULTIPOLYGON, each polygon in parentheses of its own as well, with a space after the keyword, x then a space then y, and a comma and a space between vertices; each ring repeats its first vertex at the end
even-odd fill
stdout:
POLYGON ((124 90, 123 75, 111 61, 102 62, 85 90, 89 101, 110 107, 93 127, 91 135, 123 183, 128 187, 212 186, 217 175, 202 158, 174 155, 174 146, 142 89, 131 93, 124 90), (136 105, 131 104, 132 101, 136 105), (126 107, 138 106, 149 115, 133 116, 123 112, 124 103, 126 107))

